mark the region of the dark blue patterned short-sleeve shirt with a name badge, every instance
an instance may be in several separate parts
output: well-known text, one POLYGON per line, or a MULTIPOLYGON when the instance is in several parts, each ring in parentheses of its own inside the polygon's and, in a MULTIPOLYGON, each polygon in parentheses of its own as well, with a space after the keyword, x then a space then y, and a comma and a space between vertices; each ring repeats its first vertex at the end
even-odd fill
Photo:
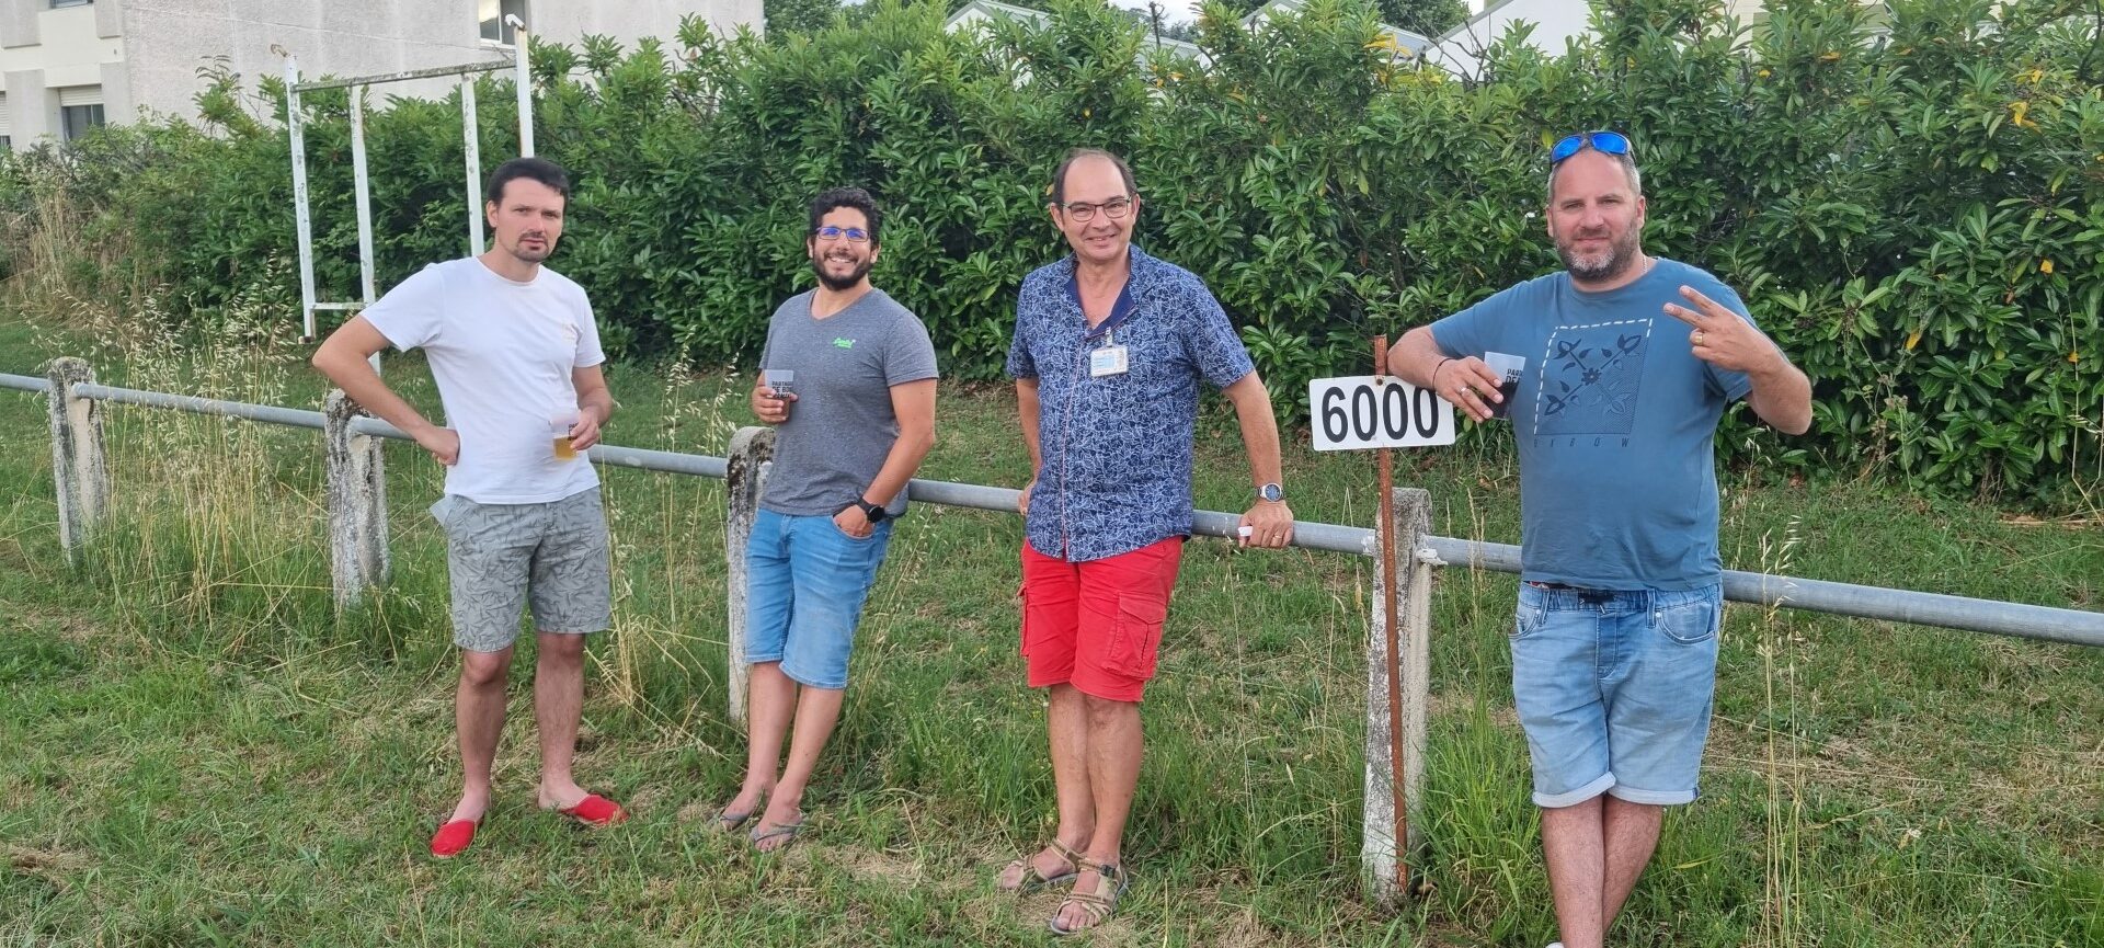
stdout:
POLYGON ((1081 563, 1191 534, 1191 439, 1203 378, 1225 389, 1256 370, 1212 290, 1132 248, 1132 313, 1109 336, 1124 374, 1092 378, 1073 256, 1023 277, 1008 376, 1037 378, 1044 471, 1029 544, 1081 563))

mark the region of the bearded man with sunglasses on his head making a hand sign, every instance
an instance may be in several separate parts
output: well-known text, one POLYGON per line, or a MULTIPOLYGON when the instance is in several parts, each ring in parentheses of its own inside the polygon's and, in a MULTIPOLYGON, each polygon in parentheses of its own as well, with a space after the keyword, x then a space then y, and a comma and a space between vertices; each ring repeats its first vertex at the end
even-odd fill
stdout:
POLYGON ((1513 423, 1513 704, 1561 946, 1599 948, 1652 858, 1662 807, 1696 799, 1723 614, 1717 418, 1746 399, 1799 435, 1812 383, 1732 288, 1643 252, 1628 139, 1572 135, 1549 158, 1563 271, 1410 330, 1389 372, 1479 423, 1513 423))

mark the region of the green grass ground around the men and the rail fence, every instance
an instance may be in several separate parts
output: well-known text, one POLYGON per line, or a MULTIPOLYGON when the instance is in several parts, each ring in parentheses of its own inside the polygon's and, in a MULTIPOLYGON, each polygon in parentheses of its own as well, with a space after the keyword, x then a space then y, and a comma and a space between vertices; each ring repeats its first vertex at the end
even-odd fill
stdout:
MULTIPOLYGON (((78 334, 0 315, 0 370, 78 334)), ((103 380, 316 406, 292 347, 128 341, 103 380)), ((423 366, 389 378, 436 406, 423 366)), ((722 454, 743 378, 616 366, 612 444, 722 454)), ((1020 486, 1002 389, 947 385, 924 475, 1020 486)), ((1056 895, 991 872, 1050 830, 1041 696, 1016 656, 1020 519, 917 507, 854 654, 810 832, 757 858, 734 790, 724 492, 606 469, 616 628, 591 647, 579 771, 635 820, 532 807, 530 652, 476 849, 425 841, 457 792, 440 471, 389 446, 393 582, 328 595, 320 435, 109 406, 112 519, 57 547, 44 401, 0 391, 0 944, 1041 944, 1056 895)), ((1302 437, 1290 437, 1302 441, 1302 437)), ((1496 448, 1410 452, 1435 530, 1517 540, 1496 448)), ((1302 519, 1372 523, 1372 458, 1288 450, 1302 519)), ((1225 412, 1197 502, 1239 509, 1225 412)), ((2026 521, 1852 473, 1725 473, 1734 568, 2096 607, 2096 511, 2026 521)), ((1193 540, 1145 719, 1115 946, 1553 940, 1511 713, 1513 578, 1445 570, 1418 898, 1359 898, 1372 561, 1193 540)), ((1734 605, 1704 799, 1675 811, 1614 944, 2104 944, 2104 650, 1734 605)))

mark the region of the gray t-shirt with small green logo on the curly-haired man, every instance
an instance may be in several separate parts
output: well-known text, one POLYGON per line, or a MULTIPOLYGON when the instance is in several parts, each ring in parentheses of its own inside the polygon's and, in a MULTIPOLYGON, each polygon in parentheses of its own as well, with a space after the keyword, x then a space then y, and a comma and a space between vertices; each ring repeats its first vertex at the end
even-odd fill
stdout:
MULTIPOLYGON (((816 290, 800 292, 768 320, 762 370, 793 370, 789 420, 774 429, 774 471, 760 507, 789 517, 831 517, 884 469, 898 439, 892 385, 934 378, 928 326, 884 290, 812 320, 816 290)), ((886 509, 905 513, 901 490, 886 509)))

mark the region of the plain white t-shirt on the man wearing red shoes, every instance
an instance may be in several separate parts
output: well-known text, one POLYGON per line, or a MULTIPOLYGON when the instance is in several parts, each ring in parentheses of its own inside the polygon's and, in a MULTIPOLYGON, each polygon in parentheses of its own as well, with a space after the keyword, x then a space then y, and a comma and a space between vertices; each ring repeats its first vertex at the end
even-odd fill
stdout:
POLYGON ((576 416, 572 368, 606 362, 585 288, 541 267, 530 284, 467 256, 433 263, 364 311, 396 349, 423 349, 461 433, 446 494, 478 504, 539 504, 600 483, 576 452, 555 460, 551 418, 576 416))

